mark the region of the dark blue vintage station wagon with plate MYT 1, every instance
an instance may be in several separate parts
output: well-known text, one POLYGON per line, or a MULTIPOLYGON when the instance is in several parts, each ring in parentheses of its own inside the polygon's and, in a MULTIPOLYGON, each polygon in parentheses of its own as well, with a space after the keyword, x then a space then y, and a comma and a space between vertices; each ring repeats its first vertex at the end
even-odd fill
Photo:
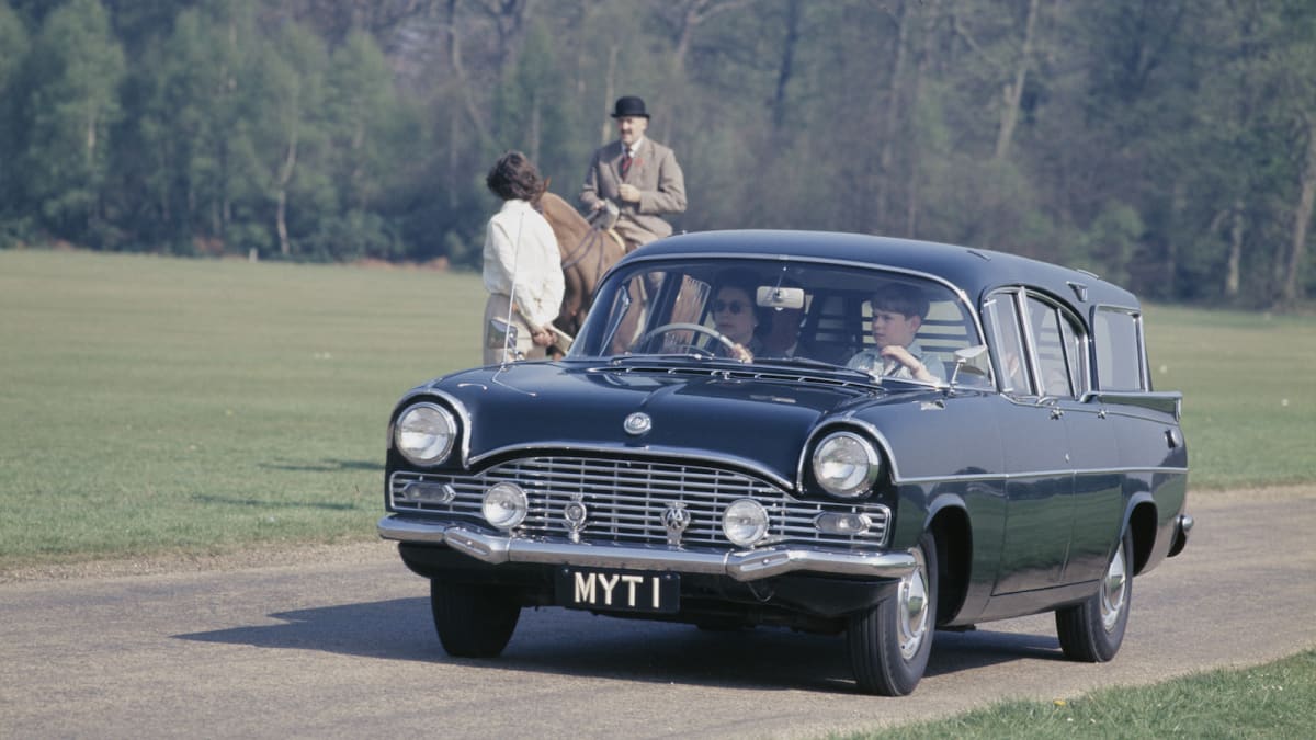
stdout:
POLYGON ((1054 611, 1065 656, 1115 656, 1192 527, 1180 402, 1092 274, 686 234, 613 266, 565 358, 408 392, 379 532, 454 656, 561 606, 845 635, 859 690, 903 695, 940 628, 1054 611))

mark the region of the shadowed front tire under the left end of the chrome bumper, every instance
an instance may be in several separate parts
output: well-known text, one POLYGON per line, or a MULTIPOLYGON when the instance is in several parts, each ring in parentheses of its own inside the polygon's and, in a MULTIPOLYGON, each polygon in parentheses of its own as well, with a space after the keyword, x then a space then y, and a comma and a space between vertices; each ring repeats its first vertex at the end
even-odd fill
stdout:
POLYGON ((521 616, 504 591, 438 579, 429 582, 429 607, 443 650, 461 658, 497 657, 521 616))

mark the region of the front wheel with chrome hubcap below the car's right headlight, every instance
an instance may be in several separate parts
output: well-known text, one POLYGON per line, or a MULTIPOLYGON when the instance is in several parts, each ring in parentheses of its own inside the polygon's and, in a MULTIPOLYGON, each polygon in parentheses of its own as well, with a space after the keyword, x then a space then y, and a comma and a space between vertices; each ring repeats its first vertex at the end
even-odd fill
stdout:
POLYGON ((850 616, 850 666, 866 694, 904 697, 928 668, 937 625, 937 545, 930 532, 913 554, 919 565, 894 595, 850 616))

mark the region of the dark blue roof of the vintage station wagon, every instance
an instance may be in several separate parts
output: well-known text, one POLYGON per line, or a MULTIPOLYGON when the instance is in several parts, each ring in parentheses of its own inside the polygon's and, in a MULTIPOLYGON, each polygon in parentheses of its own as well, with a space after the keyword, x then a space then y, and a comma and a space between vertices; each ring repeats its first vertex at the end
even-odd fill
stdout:
POLYGON ((1032 286, 1084 316, 1096 304, 1138 308, 1133 294, 1087 271, 990 249, 838 232, 695 232, 650 242, 619 266, 653 258, 717 255, 844 261, 924 273, 958 287, 975 304, 1000 287, 1032 286))

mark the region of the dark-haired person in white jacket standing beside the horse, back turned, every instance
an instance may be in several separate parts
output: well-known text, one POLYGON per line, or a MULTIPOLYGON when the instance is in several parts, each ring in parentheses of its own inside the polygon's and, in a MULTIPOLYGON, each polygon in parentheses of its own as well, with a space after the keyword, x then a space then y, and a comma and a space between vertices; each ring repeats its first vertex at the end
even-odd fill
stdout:
POLYGON ((536 211, 545 183, 530 159, 508 151, 494 163, 484 184, 503 199, 484 234, 484 363, 513 361, 517 354, 541 359, 553 344, 549 325, 562 308, 562 254, 544 216, 536 211), (491 330, 490 320, 516 327, 516 345, 508 348, 491 330))

